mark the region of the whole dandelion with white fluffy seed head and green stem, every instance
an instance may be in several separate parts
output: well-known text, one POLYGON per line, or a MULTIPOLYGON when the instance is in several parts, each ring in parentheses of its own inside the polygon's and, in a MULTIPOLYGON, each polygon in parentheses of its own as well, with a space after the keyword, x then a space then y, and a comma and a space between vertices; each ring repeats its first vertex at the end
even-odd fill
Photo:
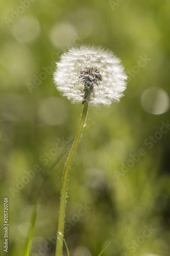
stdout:
POLYGON ((84 106, 63 172, 56 256, 62 256, 68 173, 82 135, 88 105, 110 105, 112 101, 118 102, 126 88, 126 79, 120 59, 101 47, 71 48, 57 63, 57 71, 54 73, 57 89, 72 102, 82 102, 84 106))

